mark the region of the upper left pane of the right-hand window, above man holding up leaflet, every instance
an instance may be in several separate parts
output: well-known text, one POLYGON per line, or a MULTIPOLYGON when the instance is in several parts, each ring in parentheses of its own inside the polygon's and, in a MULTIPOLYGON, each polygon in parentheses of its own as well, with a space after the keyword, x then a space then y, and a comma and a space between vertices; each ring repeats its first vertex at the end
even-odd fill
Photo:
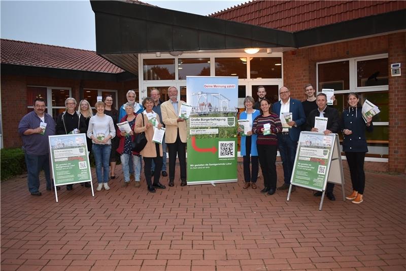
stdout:
POLYGON ((349 61, 338 61, 319 64, 319 89, 332 88, 334 90, 350 89, 349 61))

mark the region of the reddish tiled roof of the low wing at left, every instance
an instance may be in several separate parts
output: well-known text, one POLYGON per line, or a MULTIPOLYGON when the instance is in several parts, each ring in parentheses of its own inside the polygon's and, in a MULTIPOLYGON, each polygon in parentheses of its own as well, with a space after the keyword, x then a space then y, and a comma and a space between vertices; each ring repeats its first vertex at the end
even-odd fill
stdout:
POLYGON ((94 51, 1 39, 1 63, 118 74, 124 72, 94 51))

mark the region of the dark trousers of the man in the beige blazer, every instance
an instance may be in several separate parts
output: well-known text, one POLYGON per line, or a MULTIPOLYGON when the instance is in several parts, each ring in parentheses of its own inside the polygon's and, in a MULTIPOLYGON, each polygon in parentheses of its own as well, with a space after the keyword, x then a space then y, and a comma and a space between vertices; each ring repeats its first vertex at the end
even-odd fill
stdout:
POLYGON ((176 154, 178 154, 179 165, 181 168, 181 180, 186 181, 186 143, 181 141, 179 130, 175 143, 166 143, 166 145, 168 146, 169 154, 169 180, 175 180, 176 154))

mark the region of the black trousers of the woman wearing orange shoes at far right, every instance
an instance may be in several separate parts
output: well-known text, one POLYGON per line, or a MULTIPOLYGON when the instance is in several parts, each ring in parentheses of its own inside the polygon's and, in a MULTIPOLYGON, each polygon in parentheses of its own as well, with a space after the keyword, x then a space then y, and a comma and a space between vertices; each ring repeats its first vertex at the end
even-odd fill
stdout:
POLYGON ((360 194, 364 194, 365 188, 365 172, 364 172, 364 152, 346 152, 348 166, 350 167, 350 175, 352 189, 360 194))

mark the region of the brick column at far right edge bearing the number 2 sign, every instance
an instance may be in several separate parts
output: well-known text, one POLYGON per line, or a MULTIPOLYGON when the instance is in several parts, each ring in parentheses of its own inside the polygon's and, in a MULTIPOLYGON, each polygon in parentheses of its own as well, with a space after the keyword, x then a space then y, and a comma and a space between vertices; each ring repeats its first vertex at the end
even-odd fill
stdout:
POLYGON ((406 34, 389 35, 389 171, 406 173, 406 34), (390 76, 390 64, 401 63, 401 76, 390 76))

